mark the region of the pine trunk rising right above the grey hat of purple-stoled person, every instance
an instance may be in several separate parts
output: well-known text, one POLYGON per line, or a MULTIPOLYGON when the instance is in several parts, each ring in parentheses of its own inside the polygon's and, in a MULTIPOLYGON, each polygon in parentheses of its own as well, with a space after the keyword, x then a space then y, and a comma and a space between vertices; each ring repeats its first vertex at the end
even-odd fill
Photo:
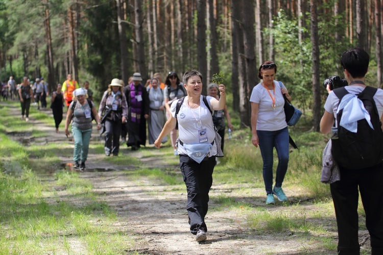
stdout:
MULTIPOLYGON (((141 73, 142 78, 147 79, 148 74, 145 64, 145 41, 142 31, 142 7, 140 0, 134 0, 134 17, 135 17, 135 32, 136 32, 136 45, 137 45, 137 62, 138 70, 141 73)), ((145 80, 144 79, 144 80, 145 80)))

